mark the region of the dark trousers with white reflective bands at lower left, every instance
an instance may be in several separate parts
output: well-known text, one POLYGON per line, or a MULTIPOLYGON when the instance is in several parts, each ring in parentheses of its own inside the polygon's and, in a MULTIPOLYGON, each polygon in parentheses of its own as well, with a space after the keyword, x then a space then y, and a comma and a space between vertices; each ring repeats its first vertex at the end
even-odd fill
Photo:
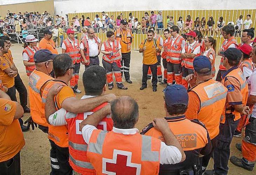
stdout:
POLYGON ((69 151, 68 147, 62 148, 54 143, 54 141, 50 141, 50 165, 52 168, 52 172, 50 175, 72 175, 73 169, 69 165, 69 151))

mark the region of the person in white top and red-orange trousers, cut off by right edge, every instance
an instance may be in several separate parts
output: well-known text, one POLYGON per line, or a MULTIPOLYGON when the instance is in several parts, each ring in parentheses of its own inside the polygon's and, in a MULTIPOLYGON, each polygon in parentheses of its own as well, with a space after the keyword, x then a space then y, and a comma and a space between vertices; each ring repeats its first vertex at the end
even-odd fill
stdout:
MULTIPOLYGON (((256 63, 256 48, 252 51, 253 57, 252 61, 256 63)), ((230 157, 230 162, 238 167, 242 167, 249 171, 253 170, 256 161, 256 71, 254 71, 251 76, 247 79, 248 84, 250 85, 250 96, 247 100, 247 105, 252 106, 250 114, 246 117, 249 119, 246 120, 245 124, 245 135, 242 140, 242 144, 236 144, 236 148, 242 152, 243 158, 239 159, 236 156, 230 157)))

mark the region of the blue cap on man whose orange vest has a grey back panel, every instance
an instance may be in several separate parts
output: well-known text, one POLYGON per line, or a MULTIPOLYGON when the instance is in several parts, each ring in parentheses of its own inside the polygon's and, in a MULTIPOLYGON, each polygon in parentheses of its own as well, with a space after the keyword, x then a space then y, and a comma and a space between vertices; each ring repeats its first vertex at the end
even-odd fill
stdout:
POLYGON ((208 73, 211 71, 211 62, 206 56, 197 56, 193 61, 193 67, 198 73, 208 73))

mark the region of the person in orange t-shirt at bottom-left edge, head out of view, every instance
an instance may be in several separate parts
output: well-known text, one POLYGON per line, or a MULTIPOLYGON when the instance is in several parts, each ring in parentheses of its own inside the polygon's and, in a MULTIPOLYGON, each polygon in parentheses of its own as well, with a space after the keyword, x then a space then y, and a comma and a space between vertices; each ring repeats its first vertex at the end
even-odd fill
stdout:
POLYGON ((22 106, 0 91, 0 170, 1 174, 20 175, 20 150, 25 140, 17 119, 23 116, 22 106))

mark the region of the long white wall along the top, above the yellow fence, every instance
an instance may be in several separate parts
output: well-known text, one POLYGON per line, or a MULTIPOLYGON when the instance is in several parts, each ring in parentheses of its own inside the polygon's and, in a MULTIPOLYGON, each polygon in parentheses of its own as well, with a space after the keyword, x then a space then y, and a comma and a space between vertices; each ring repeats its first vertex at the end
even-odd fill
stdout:
POLYGON ((196 10, 255 9, 256 0, 56 0, 56 14, 130 11, 130 10, 196 10), (146 3, 145 3, 146 2, 146 3))

